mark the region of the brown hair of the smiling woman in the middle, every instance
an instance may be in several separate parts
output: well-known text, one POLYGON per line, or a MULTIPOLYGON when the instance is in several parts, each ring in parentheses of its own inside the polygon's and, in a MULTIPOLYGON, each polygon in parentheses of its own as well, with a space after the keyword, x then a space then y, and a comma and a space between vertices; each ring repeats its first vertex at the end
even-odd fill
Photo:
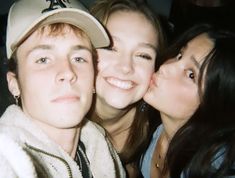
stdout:
MULTIPOLYGON (((158 16, 147 6, 143 0, 98 0, 91 8, 91 13, 105 26, 108 18, 112 13, 117 11, 137 12, 143 14, 146 19, 153 25, 158 34, 158 51, 159 56, 165 46, 165 35, 163 33, 161 22, 158 16)), ((125 19, 123 19, 125 20, 125 19)), ((144 27, 140 27, 144 28, 144 27)), ((123 151, 119 154, 124 164, 137 163, 141 154, 147 148, 151 132, 154 130, 156 120, 150 120, 147 116, 149 109, 142 100, 133 104, 136 107, 134 121, 131 125, 130 134, 123 151)), ((91 112, 94 111, 94 104, 91 112)), ((159 122, 160 123, 160 122, 159 122)))

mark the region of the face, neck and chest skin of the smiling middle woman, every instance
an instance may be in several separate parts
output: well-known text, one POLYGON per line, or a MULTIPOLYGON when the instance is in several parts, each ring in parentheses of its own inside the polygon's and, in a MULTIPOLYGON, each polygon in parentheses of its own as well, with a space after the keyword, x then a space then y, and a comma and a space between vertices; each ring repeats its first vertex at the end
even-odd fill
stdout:
MULTIPOLYGON (((112 12, 105 26, 112 45, 98 49, 92 118, 106 129, 120 155, 128 150, 125 146, 137 119, 135 104, 146 93, 154 72, 159 33, 142 12, 132 10, 112 12)), ((125 167, 130 178, 137 177, 137 164, 128 163, 125 167)))

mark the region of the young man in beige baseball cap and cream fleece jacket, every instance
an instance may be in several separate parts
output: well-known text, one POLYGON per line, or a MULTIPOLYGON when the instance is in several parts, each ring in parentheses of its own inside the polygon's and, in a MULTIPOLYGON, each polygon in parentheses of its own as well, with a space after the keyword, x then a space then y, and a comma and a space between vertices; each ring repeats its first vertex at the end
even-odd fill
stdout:
POLYGON ((8 88, 0 119, 0 177, 125 177, 102 129, 84 119, 94 48, 109 45, 75 0, 19 0, 7 26, 8 88))

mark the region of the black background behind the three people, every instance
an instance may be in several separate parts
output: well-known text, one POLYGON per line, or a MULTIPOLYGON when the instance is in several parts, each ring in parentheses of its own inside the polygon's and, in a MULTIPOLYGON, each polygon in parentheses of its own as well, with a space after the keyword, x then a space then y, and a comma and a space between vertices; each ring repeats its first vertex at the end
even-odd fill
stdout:
MULTIPOLYGON (((5 78, 5 34, 7 13, 15 0, 0 0, 0 116, 14 100, 7 89, 5 78)), ((32 0, 33 1, 33 0, 32 0)), ((46 0, 45 0, 46 1, 46 0)), ((80 0, 88 9, 95 0, 80 0)), ((235 0, 145 0, 161 16, 170 43, 196 23, 209 22, 235 31, 235 0), (220 2, 219 6, 198 5, 197 2, 220 2)))

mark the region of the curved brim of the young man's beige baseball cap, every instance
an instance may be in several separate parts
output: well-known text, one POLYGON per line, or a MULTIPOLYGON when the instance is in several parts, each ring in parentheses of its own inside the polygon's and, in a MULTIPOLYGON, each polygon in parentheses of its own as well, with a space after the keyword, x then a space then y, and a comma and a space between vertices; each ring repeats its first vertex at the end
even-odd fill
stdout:
POLYGON ((24 33, 18 37, 17 44, 12 44, 11 49, 25 40, 36 28, 53 24, 53 23, 67 23, 74 25, 83 30, 91 40, 95 48, 105 47, 110 44, 109 37, 105 32, 104 27, 90 14, 78 10, 62 8, 45 13, 41 18, 31 23, 24 33))

